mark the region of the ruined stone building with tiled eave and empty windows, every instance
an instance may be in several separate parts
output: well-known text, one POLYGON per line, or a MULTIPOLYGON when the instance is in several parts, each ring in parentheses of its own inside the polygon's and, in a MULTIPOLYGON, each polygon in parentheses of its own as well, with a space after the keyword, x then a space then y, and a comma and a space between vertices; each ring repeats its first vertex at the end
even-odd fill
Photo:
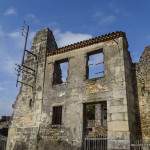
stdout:
POLYGON ((101 137, 107 149, 150 140, 150 47, 133 63, 124 32, 58 48, 35 35, 23 63, 7 150, 67 150, 101 137), (33 76, 34 74, 35 76, 33 76))

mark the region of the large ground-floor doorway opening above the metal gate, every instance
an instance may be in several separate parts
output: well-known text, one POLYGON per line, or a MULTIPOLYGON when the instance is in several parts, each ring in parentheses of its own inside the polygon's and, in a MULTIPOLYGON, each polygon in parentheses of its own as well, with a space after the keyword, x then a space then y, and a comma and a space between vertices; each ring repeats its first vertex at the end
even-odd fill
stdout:
POLYGON ((106 102, 85 104, 84 131, 86 136, 107 135, 106 102))

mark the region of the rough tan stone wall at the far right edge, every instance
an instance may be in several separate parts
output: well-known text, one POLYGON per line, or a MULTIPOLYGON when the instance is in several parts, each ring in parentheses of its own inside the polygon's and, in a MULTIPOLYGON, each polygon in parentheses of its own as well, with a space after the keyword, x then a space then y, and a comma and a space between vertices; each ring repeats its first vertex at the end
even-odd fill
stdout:
POLYGON ((150 46, 145 48, 136 64, 136 77, 142 138, 150 141, 150 46))

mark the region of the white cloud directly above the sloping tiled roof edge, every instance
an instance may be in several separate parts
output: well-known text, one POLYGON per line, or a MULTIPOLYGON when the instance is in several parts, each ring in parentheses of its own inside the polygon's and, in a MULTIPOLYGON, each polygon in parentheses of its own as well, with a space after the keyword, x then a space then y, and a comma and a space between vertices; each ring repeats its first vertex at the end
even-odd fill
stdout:
POLYGON ((59 29, 54 30, 54 36, 59 47, 73 44, 92 37, 90 34, 73 33, 71 31, 61 32, 59 29))

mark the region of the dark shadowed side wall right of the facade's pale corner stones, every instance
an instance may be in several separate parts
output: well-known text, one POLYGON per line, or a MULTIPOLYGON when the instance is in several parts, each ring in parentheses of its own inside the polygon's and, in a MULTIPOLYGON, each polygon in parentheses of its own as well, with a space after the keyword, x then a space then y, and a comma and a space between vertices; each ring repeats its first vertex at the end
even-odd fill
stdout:
MULTIPOLYGON (((124 43, 127 48, 127 43, 124 43)), ((129 51, 124 51, 124 64, 125 64, 125 76, 126 76, 126 95, 127 95, 127 106, 128 106, 128 118, 129 118, 129 128, 130 128, 130 142, 132 143, 136 139, 139 139, 138 128, 135 128, 137 125, 137 115, 136 115, 136 97, 135 97, 135 88, 134 88, 134 72, 133 72, 133 63, 129 51), (138 135, 138 136, 137 136, 138 135)), ((139 133, 140 134, 140 133, 139 133)))

